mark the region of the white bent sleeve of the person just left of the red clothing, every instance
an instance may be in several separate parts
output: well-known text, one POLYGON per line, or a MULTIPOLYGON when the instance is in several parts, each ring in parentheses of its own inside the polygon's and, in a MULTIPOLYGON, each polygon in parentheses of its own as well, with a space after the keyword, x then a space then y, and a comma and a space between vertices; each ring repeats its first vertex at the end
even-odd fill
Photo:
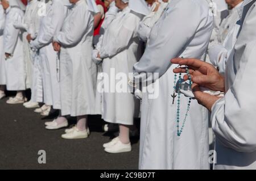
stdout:
POLYGON ((73 46, 82 39, 82 34, 85 32, 88 27, 91 12, 84 9, 76 10, 72 12, 73 20, 69 21, 70 26, 72 27, 69 31, 60 31, 56 34, 54 40, 65 46, 73 46))

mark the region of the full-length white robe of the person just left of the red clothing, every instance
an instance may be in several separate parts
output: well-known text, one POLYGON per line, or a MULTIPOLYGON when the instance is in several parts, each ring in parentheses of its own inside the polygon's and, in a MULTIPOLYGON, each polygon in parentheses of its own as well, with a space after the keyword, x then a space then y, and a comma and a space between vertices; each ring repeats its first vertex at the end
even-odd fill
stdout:
POLYGON ((84 0, 68 12, 63 28, 54 38, 61 44, 61 114, 93 115, 95 94, 92 82, 93 13, 84 0))

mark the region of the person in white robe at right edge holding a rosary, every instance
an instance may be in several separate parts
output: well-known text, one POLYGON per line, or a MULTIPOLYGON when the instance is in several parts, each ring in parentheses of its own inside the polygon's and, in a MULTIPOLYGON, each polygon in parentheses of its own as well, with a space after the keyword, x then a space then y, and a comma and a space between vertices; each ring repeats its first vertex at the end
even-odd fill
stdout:
POLYGON ((212 112, 216 170, 256 169, 256 85, 252 79, 256 67, 256 1, 245 0, 239 12, 242 28, 227 61, 224 77, 212 65, 199 60, 172 60, 175 64, 193 66, 190 73, 195 98, 212 112), (197 85, 224 91, 225 96, 205 94, 197 85))

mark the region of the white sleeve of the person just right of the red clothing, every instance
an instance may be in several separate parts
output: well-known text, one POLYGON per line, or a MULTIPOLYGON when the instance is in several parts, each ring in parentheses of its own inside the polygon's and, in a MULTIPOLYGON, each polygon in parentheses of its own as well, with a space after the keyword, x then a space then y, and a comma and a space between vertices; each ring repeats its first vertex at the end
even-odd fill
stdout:
POLYGON ((130 13, 129 17, 123 20, 123 25, 116 33, 116 36, 112 36, 108 39, 108 42, 102 42, 100 48, 101 58, 113 57, 115 54, 127 49, 132 39, 137 36, 138 23, 139 17, 130 13))

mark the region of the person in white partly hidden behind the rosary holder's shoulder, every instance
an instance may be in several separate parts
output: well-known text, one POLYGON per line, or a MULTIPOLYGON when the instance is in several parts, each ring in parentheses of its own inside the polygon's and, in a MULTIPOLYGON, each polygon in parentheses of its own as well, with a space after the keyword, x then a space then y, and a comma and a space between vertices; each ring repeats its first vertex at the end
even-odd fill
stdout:
POLYGON ((221 22, 217 42, 213 43, 208 50, 210 62, 219 69, 221 74, 225 72, 226 60, 237 41, 237 34, 240 30, 240 16, 237 10, 242 2, 243 0, 227 1, 232 9, 229 11, 229 16, 221 22))

